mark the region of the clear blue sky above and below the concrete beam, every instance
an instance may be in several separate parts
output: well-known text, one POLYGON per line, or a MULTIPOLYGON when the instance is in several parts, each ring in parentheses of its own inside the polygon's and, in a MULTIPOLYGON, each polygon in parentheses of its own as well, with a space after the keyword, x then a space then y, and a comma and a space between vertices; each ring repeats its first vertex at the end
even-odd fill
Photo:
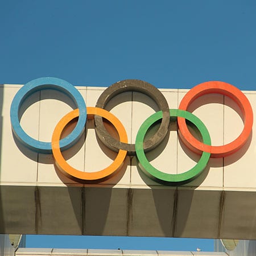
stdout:
MULTIPOLYGON (((0 14, 0 84, 53 76, 85 86, 222 80, 256 90, 255 0, 2 0, 0 14)), ((212 240, 171 238, 28 236, 27 246, 106 248, 105 241, 113 249, 213 250, 212 240)))

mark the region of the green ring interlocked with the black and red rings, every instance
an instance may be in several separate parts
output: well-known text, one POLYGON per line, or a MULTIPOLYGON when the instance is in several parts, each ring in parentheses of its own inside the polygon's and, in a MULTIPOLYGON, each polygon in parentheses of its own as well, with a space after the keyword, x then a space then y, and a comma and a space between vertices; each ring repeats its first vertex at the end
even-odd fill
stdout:
MULTIPOLYGON (((137 158, 139 160, 139 167, 150 179, 155 180, 158 183, 168 184, 168 185, 179 185, 188 183, 189 181, 195 179, 197 176, 201 174, 204 168, 207 166, 207 163, 210 158, 210 153, 203 152, 199 162, 192 167, 190 170, 183 172, 182 174, 166 174, 162 171, 159 171, 155 167, 153 167, 150 162, 148 162, 144 149, 143 149, 143 141, 144 137, 148 131, 148 129, 159 119, 162 118, 162 111, 156 112, 152 114, 150 117, 146 119, 139 128, 136 142, 135 142, 135 150, 137 154, 137 158)), ((210 145, 210 135, 205 127, 204 123, 195 115, 190 112, 181 109, 170 109, 170 117, 183 117, 189 121, 191 121, 197 129, 200 131, 203 142, 205 144, 210 145)))

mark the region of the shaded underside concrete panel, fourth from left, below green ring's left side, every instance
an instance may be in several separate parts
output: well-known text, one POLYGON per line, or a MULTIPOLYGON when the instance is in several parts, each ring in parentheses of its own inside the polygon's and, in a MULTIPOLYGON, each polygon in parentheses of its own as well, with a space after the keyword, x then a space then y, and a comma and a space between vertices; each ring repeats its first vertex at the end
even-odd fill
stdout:
POLYGON ((129 236, 173 236, 174 188, 131 191, 129 236))

